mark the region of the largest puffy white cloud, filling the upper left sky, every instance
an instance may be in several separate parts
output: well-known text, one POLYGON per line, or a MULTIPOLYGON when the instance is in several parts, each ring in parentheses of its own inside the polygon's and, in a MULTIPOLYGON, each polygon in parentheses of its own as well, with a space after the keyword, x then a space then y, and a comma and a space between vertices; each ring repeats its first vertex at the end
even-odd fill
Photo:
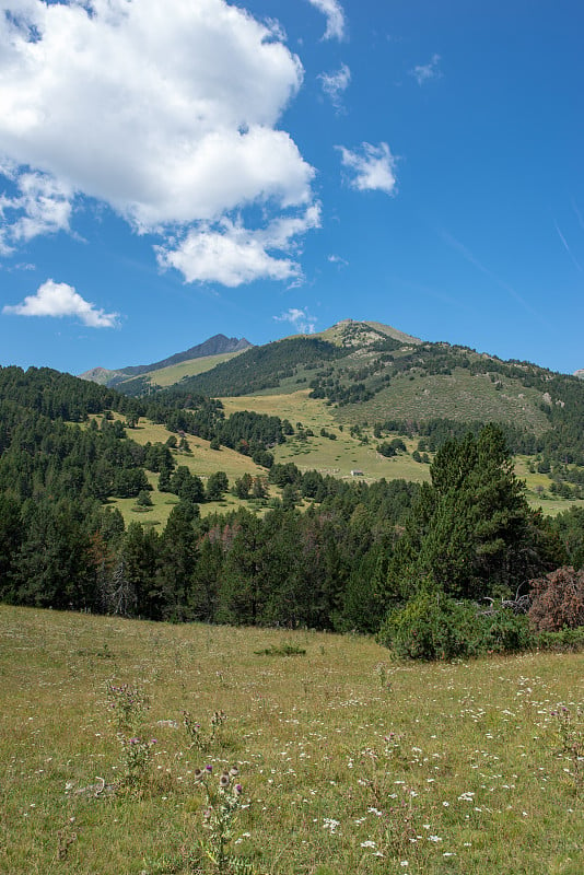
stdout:
POLYGON ((282 39, 226 0, 0 0, 4 252, 67 231, 82 196, 162 246, 257 206, 303 213, 314 168, 278 128, 303 69, 282 39))

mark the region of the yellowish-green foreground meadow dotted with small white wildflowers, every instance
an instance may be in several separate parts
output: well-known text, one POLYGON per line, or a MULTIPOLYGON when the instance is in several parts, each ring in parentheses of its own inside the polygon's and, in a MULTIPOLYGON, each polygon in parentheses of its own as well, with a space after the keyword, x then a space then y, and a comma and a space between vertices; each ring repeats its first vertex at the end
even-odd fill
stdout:
POLYGON ((579 654, 400 664, 367 638, 0 606, 0 678, 11 875, 584 870, 579 654))

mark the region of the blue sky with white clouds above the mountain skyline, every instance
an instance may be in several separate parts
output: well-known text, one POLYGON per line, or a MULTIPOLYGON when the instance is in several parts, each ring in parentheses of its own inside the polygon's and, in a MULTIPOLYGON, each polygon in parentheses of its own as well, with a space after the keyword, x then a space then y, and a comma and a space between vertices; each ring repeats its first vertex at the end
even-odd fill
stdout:
POLYGON ((0 0, 0 364, 374 319, 584 368, 579 0, 0 0))

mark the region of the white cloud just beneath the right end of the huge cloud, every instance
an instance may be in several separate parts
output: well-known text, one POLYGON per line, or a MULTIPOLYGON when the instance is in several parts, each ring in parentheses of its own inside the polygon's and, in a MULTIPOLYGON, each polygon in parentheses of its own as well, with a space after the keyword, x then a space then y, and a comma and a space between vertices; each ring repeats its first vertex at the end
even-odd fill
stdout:
POLYGON ((190 230, 174 246, 157 247, 159 264, 180 271, 187 282, 220 282, 232 288, 258 279, 297 280, 300 265, 282 254, 293 252, 294 238, 319 224, 317 205, 304 215, 277 219, 255 231, 224 219, 220 224, 190 230))

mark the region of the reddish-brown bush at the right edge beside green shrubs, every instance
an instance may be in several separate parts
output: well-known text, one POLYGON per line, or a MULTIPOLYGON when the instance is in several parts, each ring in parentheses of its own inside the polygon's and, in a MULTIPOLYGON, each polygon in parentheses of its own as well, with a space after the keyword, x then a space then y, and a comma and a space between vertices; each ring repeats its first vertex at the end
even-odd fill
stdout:
POLYGON ((584 571, 564 567, 530 581, 529 618, 536 629, 557 632, 584 626, 584 571))

